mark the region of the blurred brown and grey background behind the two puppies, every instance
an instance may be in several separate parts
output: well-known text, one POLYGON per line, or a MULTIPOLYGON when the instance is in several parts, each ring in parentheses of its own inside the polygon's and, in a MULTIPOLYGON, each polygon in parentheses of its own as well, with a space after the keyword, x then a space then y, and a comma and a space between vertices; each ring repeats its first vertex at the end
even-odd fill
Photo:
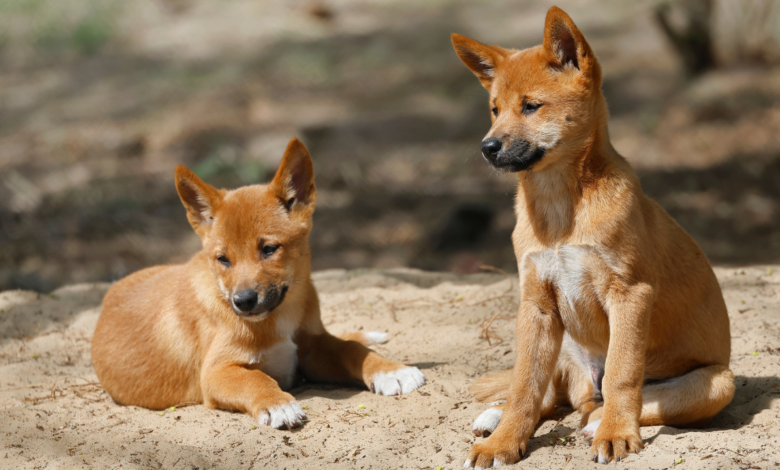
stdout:
MULTIPOLYGON (((558 1, 613 143, 714 264, 780 262, 780 1, 558 1)), ((524 48, 552 2, 0 0, 0 290, 199 249, 176 194, 314 158, 313 267, 516 271, 516 176, 450 33, 524 48)))

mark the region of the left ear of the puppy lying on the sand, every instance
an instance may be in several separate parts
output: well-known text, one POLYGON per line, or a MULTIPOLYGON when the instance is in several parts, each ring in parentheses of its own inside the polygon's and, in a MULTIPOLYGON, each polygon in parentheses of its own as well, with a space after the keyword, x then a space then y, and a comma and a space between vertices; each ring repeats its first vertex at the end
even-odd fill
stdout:
POLYGON ((222 191, 205 183, 184 165, 176 167, 176 191, 187 209, 187 220, 203 238, 222 203, 222 191))

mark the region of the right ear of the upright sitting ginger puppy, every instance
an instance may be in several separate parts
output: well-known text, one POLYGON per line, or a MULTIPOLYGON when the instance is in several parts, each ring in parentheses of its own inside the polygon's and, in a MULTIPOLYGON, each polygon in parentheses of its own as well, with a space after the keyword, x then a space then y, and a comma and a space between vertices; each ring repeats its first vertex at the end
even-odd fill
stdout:
POLYGON ((601 81, 601 71, 588 41, 569 15, 558 7, 547 11, 542 46, 552 53, 556 68, 573 66, 583 75, 601 81))

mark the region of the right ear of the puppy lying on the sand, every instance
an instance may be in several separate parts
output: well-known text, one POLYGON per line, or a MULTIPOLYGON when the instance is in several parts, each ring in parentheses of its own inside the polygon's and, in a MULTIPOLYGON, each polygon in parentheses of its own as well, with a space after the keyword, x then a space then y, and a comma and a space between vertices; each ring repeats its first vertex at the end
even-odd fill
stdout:
POLYGON ((317 191, 314 189, 314 165, 303 143, 293 138, 287 144, 284 157, 271 182, 288 211, 300 207, 314 207, 317 191))

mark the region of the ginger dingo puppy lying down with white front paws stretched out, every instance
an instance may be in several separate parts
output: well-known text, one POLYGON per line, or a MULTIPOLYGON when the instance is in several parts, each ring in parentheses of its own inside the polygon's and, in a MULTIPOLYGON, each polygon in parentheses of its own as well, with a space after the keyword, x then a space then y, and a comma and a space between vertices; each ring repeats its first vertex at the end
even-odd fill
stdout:
POLYGON ((364 346, 384 333, 325 331, 310 277, 314 170, 301 142, 290 141, 268 185, 218 190, 180 165, 176 189, 203 249, 106 294, 92 363, 114 400, 152 409, 203 403, 293 428, 306 418, 283 391, 296 371, 383 395, 425 383, 416 367, 364 346))

